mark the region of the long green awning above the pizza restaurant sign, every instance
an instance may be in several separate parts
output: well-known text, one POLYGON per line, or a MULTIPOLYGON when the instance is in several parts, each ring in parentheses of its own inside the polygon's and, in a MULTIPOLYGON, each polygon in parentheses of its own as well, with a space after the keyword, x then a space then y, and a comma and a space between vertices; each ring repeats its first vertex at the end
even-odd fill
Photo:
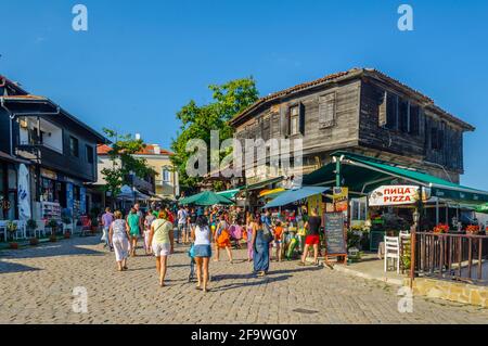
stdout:
MULTIPOLYGON (((348 152, 335 152, 331 156, 341 161, 341 179, 349 193, 365 195, 384 184, 407 181, 431 189, 432 196, 450 201, 484 204, 488 192, 463 187, 406 166, 387 163, 348 152)), ((304 177, 306 185, 335 184, 336 164, 331 163, 304 177)))

